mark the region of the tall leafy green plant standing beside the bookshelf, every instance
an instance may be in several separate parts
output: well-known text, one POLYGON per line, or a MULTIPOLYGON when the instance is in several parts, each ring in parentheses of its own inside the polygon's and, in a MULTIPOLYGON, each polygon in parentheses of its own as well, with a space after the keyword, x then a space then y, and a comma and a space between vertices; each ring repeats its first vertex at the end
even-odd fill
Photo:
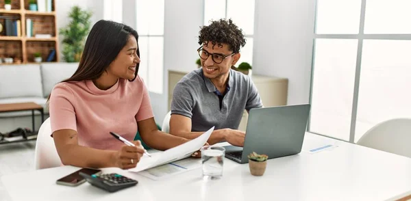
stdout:
POLYGON ((71 22, 60 29, 63 36, 63 57, 66 62, 79 62, 84 49, 84 40, 90 31, 92 12, 73 6, 69 17, 71 22))

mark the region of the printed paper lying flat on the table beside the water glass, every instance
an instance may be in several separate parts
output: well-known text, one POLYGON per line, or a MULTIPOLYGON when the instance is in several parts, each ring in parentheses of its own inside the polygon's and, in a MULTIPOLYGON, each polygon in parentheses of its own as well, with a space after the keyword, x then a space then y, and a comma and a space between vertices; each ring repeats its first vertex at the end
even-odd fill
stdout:
POLYGON ((166 163, 158 167, 153 167, 148 170, 138 172, 142 176, 146 176, 153 180, 160 180, 162 178, 167 178, 175 174, 180 174, 182 172, 187 172, 201 167, 201 160, 188 158, 182 159, 180 161, 174 161, 172 163, 166 163))

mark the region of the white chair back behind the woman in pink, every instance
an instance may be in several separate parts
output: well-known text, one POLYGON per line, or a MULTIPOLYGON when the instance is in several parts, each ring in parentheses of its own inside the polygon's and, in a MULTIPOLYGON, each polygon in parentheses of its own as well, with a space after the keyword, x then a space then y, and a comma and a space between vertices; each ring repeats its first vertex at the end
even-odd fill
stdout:
POLYGON ((51 135, 50 118, 43 122, 38 130, 34 161, 36 170, 62 165, 54 140, 51 135))

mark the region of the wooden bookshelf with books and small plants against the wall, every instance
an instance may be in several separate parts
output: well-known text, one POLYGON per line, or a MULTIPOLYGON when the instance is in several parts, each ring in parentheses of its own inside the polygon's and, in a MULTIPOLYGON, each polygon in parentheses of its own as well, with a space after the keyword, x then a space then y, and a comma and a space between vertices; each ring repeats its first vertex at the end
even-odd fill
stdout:
MULTIPOLYGON (((4 2, 0 1, 0 23, 3 26, 3 31, 0 32, 0 59, 12 57, 12 64, 32 64, 34 53, 41 53, 42 62, 47 62, 49 54, 54 50, 55 54, 49 62, 60 62, 55 0, 36 1, 37 9, 41 12, 29 10, 30 0, 12 0, 12 10, 5 10, 4 2), (49 3, 51 6, 47 5, 49 3), (31 26, 27 26, 27 19, 32 21, 31 26), (19 27, 14 29, 13 34, 6 33, 6 20, 9 27, 10 21, 16 22, 14 27, 19 27), (27 36, 29 32, 32 32, 31 36, 27 36), (6 36, 6 34, 19 36, 6 36)), ((0 62, 0 65, 4 64, 7 63, 0 62)))

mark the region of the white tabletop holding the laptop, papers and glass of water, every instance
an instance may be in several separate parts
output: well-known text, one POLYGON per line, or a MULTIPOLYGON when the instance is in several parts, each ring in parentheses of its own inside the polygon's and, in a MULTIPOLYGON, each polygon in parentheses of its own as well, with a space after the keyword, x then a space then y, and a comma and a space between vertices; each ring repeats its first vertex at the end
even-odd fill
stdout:
MULTIPOLYGON (((323 139, 328 138, 307 133, 303 150, 323 139)), ((201 168, 165 180, 104 169, 139 181, 116 193, 88 183, 56 185, 55 180, 79 169, 71 166, 7 175, 1 180, 13 200, 395 200, 411 193, 411 159, 335 142, 338 148, 333 150, 271 159, 260 177, 251 176, 248 164, 225 159, 219 180, 202 180, 201 168)))

